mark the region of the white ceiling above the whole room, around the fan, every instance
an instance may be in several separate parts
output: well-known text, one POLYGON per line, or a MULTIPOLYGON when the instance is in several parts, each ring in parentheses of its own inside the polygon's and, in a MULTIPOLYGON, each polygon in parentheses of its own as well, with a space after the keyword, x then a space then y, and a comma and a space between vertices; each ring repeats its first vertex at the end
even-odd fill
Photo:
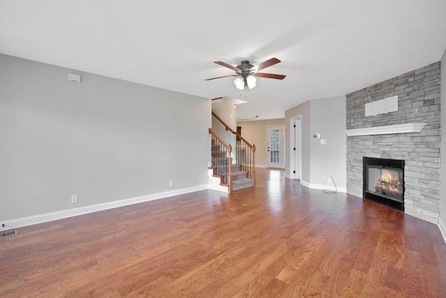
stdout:
MULTIPOLYGON (((0 0, 0 52, 205 98, 231 96, 238 119, 284 117, 440 61, 445 0, 0 0), (247 59, 282 63, 240 91, 247 59)), ((0 66, 1 67, 1 66, 0 66)))

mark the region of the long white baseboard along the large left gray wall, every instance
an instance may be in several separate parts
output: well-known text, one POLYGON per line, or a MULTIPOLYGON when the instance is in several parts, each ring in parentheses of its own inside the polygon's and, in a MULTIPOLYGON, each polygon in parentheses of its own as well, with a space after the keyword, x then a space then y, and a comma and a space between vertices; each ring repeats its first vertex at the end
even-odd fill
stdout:
POLYGON ((113 202, 106 202, 102 204, 94 204, 90 206, 84 206, 74 209, 67 209, 55 212, 49 212, 46 214, 38 214, 35 216, 26 216, 22 218, 15 218, 8 221, 2 221, 5 224, 5 227, 0 227, 0 231, 2 230, 10 230, 14 228, 24 227, 26 225, 36 225, 38 223, 46 223, 48 221, 56 221, 62 218, 68 218, 72 216, 79 216, 82 214, 89 214, 92 212, 103 211, 107 209, 113 209, 117 207, 128 206, 131 204, 138 204, 142 202, 148 202, 153 200, 160 200, 163 198, 168 198, 174 195, 183 195, 185 193, 192 193, 194 191, 203 191, 205 189, 209 189, 208 184, 200 185, 200 186, 192 186, 188 188, 181 188, 175 191, 166 191, 164 193, 155 193, 153 195, 143 195, 141 197, 129 198, 124 200, 117 200, 113 202))

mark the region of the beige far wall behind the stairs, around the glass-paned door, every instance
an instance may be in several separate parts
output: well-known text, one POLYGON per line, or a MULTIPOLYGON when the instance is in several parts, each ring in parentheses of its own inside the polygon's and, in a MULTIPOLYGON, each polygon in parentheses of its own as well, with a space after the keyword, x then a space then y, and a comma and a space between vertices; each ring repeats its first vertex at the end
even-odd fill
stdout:
MULTIPOLYGON (((282 126, 284 119, 272 119, 263 121, 244 121, 238 122, 237 126, 242 127, 242 136, 250 143, 256 145, 256 166, 268 167, 266 137, 266 126, 282 126)), ((285 147, 285 154, 288 148, 285 147)))

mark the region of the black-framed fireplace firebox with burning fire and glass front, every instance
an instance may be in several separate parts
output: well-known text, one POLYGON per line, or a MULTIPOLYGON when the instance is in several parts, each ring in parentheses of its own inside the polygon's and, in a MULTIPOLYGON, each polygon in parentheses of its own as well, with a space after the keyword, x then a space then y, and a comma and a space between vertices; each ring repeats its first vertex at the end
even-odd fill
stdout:
POLYGON ((364 157, 362 197, 404 211, 404 161, 364 157))

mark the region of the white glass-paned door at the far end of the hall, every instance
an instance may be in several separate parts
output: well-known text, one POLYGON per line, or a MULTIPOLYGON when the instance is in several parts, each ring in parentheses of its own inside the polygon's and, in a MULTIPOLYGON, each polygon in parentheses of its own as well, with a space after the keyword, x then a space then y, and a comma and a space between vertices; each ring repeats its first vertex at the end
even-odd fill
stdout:
POLYGON ((284 127, 268 126, 268 167, 285 167, 284 127))

